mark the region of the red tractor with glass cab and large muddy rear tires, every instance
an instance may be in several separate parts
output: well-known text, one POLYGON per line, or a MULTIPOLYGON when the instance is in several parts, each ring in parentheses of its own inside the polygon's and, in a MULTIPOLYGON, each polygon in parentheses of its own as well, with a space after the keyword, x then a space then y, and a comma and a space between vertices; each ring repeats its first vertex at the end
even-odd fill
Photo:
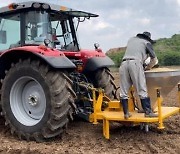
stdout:
POLYGON ((112 60, 97 45, 80 49, 76 35, 79 22, 97 16, 39 2, 0 9, 1 114, 12 134, 43 141, 76 115, 88 119, 92 102, 82 98, 92 94, 79 83, 115 97, 112 60))

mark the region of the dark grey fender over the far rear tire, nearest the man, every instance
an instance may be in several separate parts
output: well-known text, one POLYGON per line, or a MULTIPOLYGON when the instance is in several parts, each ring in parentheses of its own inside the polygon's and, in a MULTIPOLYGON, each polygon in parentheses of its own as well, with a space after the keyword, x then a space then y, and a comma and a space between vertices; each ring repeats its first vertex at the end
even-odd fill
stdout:
POLYGON ((102 67, 113 66, 114 62, 108 57, 92 57, 86 62, 84 72, 95 71, 102 67))

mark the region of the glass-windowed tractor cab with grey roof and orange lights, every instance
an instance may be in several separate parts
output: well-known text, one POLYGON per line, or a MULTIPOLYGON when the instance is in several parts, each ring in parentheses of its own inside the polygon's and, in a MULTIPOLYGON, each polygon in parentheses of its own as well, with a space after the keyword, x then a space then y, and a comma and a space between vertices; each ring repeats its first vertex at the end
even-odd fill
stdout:
POLYGON ((97 16, 52 4, 10 4, 0 10, 0 51, 39 45, 79 51, 76 30, 81 18, 97 16))

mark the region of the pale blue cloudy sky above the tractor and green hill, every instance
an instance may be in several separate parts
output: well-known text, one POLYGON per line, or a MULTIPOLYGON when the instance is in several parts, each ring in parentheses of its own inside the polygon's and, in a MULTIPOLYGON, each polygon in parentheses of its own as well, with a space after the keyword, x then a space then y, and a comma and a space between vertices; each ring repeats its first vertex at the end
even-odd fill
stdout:
MULTIPOLYGON (((1 0, 0 6, 22 1, 1 0)), ((152 39, 171 37, 180 32, 180 0, 40 1, 99 15, 80 24, 78 36, 82 48, 93 49, 93 44, 98 42, 105 52, 126 46, 130 37, 143 31, 150 31, 152 39)))

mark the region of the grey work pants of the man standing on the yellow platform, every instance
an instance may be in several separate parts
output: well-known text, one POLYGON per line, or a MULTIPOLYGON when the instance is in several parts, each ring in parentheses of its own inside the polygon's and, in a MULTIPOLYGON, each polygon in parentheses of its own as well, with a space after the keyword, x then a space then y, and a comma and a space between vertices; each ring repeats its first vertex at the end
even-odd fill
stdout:
POLYGON ((121 99, 128 99, 129 88, 132 85, 136 88, 140 99, 148 96, 144 69, 139 60, 123 61, 119 73, 121 99))

